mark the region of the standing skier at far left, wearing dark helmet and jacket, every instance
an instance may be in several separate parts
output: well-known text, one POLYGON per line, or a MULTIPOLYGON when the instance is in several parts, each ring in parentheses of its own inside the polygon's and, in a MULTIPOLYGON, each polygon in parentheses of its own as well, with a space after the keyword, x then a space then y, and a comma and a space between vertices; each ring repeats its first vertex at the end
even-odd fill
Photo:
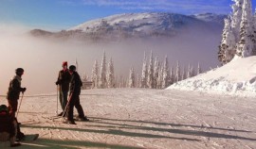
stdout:
POLYGON ((17 68, 15 70, 16 75, 9 82, 9 91, 7 94, 9 104, 9 114, 14 118, 18 107, 18 99, 20 98, 20 92, 24 93, 27 89, 21 88, 22 75, 24 69, 17 68))

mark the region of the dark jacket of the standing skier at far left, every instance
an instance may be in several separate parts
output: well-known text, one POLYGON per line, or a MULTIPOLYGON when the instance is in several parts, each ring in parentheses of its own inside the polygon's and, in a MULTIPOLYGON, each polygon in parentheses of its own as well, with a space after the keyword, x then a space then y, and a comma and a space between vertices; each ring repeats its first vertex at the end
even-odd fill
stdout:
POLYGON ((21 80, 22 78, 19 75, 13 76, 13 78, 9 82, 9 91, 7 94, 8 100, 18 100, 20 97, 20 92, 24 91, 21 88, 21 80))

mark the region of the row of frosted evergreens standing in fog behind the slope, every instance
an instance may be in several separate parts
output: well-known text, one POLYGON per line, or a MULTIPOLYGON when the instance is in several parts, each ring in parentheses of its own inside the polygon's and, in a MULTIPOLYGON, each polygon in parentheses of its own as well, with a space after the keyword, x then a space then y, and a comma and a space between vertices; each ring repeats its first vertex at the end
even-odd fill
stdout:
POLYGON ((174 67, 169 66, 167 56, 163 61, 159 61, 157 57, 154 58, 153 52, 147 57, 144 53, 141 75, 135 72, 134 67, 127 70, 127 75, 116 75, 114 72, 114 61, 112 58, 107 63, 106 54, 103 52, 101 60, 101 68, 98 60, 95 60, 92 74, 82 76, 82 81, 91 81, 93 89, 106 88, 150 88, 150 89, 165 89, 177 81, 201 74, 201 67, 198 63, 197 68, 190 64, 187 69, 181 69, 179 61, 174 67))

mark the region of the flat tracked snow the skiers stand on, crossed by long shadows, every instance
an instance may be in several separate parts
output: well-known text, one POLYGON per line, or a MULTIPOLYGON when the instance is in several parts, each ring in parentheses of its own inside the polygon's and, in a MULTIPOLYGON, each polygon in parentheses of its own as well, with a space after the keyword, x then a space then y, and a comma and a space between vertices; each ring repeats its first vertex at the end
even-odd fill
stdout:
POLYGON ((252 98, 172 90, 82 91, 82 108, 91 121, 76 125, 47 119, 56 115, 56 100, 23 99, 21 129, 40 137, 19 148, 256 148, 252 98))

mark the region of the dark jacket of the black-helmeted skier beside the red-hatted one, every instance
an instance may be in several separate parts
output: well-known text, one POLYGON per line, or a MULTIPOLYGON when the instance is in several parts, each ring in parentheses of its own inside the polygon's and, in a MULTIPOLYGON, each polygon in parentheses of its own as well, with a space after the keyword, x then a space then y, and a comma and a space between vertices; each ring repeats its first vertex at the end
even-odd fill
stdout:
POLYGON ((70 81, 70 94, 72 95, 80 95, 82 87, 82 80, 80 78, 80 75, 77 72, 74 72, 71 75, 71 81, 70 81))

